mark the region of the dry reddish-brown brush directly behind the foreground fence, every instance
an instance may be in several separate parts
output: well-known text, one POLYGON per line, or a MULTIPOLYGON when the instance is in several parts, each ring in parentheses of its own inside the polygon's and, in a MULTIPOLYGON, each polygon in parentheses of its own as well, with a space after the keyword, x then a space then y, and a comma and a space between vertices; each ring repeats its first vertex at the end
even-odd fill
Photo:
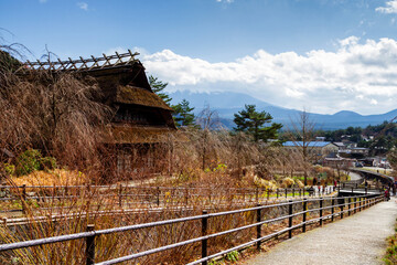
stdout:
MULTIPOLYGON (((54 201, 49 200, 46 209, 34 209, 34 205, 26 203, 25 225, 15 226, 15 230, 1 226, 0 239, 2 243, 19 242, 32 239, 42 239, 56 236, 62 234, 78 233, 86 230, 87 224, 95 224, 95 229, 108 229, 124 226, 130 224, 153 222, 173 218, 201 214, 203 210, 200 200, 191 201, 193 210, 185 210, 173 204, 173 208, 163 208, 160 212, 151 212, 150 210, 140 213, 129 214, 110 214, 104 215, 95 211, 122 210, 115 204, 107 204, 109 199, 104 194, 109 192, 103 189, 84 190, 69 208, 56 208, 54 201), (101 197, 98 194, 103 194, 101 197), (58 218, 56 222, 44 220, 35 222, 37 216, 64 215, 58 218), (67 216, 67 218, 66 218, 67 216)), ((202 194, 203 200, 206 194, 202 194)), ((40 201, 40 200, 37 200, 40 201)), ((40 202, 42 203, 42 202, 40 202)), ((183 203, 183 202, 180 202, 183 203)), ((44 205, 44 204, 43 204, 44 205)), ((211 212, 225 211, 235 209, 237 205, 219 205, 214 203, 211 212)), ((237 214, 233 216, 223 216, 210 220, 210 231, 224 231, 235 226, 240 226, 253 222, 255 214, 237 214)), ((189 240, 200 236, 201 221, 191 221, 186 223, 178 223, 153 229, 144 229, 139 231, 130 231, 118 234, 101 235, 97 237, 97 262, 119 257, 130 253, 141 252, 162 245, 189 240)), ((254 233, 253 231, 239 232, 234 235, 226 235, 211 242, 211 251, 215 252, 227 246, 232 246, 239 242, 248 240, 254 233)), ((76 240, 65 243, 56 243, 44 246, 30 247, 21 251, 13 251, 1 254, 2 264, 84 264, 84 240, 76 240), (15 261, 12 263, 10 261, 15 261)), ((186 245, 178 250, 163 252, 161 254, 150 255, 136 261, 139 264, 158 264, 167 261, 169 264, 182 264, 191 261, 192 257, 200 255, 200 244, 186 245)))

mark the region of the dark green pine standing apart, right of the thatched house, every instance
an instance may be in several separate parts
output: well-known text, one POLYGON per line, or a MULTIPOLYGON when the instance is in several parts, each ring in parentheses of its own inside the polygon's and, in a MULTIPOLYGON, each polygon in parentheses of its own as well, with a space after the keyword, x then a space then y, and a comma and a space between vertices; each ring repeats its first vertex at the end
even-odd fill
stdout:
POLYGON ((255 105, 245 105, 245 109, 234 115, 234 123, 237 125, 234 130, 244 131, 254 137, 255 141, 277 138, 278 130, 282 127, 281 124, 270 124, 272 117, 266 112, 257 112, 255 105))

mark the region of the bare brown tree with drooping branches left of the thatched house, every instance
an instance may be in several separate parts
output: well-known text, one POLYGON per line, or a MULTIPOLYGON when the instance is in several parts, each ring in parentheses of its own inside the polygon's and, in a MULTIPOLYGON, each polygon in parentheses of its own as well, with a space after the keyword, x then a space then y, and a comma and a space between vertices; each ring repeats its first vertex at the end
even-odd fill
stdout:
POLYGON ((98 100, 94 80, 3 72, 0 83, 0 148, 15 153, 37 148, 69 166, 97 155, 111 110, 98 100))

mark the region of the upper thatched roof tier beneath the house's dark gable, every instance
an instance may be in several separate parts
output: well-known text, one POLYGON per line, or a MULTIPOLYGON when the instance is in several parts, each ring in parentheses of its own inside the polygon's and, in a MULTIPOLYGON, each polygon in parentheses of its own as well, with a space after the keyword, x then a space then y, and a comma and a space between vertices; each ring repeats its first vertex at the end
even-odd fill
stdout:
POLYGON ((172 112, 172 108, 167 105, 167 103, 164 103, 157 94, 136 86, 119 86, 117 88, 117 96, 115 102, 147 107, 157 107, 172 112))

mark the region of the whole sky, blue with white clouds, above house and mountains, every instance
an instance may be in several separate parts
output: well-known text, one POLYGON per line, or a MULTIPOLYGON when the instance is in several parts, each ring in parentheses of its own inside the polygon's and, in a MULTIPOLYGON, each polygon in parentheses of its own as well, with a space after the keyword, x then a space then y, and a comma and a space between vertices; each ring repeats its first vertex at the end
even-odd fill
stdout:
POLYGON ((170 92, 314 113, 397 108, 396 19, 395 0, 0 0, 2 43, 29 59, 131 49, 170 92))

